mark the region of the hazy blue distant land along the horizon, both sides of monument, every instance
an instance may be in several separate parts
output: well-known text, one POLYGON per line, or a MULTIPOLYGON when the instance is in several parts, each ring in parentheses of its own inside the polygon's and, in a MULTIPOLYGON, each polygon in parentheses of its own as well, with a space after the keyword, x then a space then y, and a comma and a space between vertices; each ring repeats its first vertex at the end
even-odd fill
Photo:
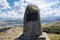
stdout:
MULTIPOLYGON (((60 17, 44 17, 41 18, 42 24, 48 24, 54 21, 59 21, 60 17)), ((0 18, 0 26, 23 26, 23 19, 22 18, 0 18)))

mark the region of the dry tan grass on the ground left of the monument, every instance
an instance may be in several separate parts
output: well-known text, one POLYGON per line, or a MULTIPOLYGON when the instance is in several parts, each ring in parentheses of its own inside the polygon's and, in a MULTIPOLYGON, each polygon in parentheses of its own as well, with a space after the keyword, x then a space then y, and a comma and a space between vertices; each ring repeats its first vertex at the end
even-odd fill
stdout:
POLYGON ((20 27, 14 27, 7 31, 0 33, 0 40, 14 40, 15 37, 22 32, 23 29, 20 27))

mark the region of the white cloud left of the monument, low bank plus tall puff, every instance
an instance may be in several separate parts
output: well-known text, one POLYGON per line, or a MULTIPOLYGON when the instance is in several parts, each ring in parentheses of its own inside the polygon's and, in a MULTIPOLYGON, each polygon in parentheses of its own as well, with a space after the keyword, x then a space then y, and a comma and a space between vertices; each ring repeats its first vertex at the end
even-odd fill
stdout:
POLYGON ((1 12, 0 18, 23 18, 25 12, 25 8, 23 7, 24 5, 23 0, 15 2, 14 10, 8 11, 7 13, 1 12))

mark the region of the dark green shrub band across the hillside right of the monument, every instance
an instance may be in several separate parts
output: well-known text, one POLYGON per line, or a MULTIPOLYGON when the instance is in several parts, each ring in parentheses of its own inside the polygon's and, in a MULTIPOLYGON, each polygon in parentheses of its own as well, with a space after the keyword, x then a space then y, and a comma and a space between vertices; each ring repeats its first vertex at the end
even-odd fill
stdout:
POLYGON ((47 32, 47 33, 60 33, 60 28, 55 27, 55 26, 50 26, 50 27, 42 27, 42 31, 47 32))

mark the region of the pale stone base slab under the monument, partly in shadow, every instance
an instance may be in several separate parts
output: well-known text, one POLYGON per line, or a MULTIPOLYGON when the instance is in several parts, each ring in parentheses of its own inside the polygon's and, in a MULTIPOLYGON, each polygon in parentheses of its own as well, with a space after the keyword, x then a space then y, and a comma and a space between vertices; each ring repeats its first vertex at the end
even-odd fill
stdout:
POLYGON ((45 32, 42 32, 42 35, 39 37, 26 37, 23 36, 23 34, 19 34, 15 40, 50 40, 50 39, 45 32))

